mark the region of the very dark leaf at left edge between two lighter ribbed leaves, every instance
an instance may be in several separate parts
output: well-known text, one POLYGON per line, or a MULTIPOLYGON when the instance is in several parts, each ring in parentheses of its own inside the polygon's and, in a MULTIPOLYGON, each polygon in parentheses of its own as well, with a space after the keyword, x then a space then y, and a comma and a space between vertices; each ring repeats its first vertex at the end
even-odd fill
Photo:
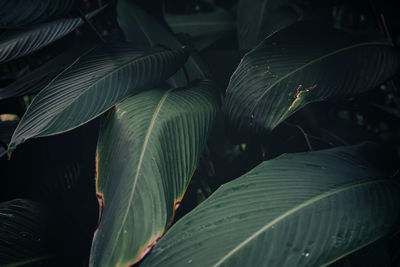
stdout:
POLYGON ((22 76, 17 81, 0 90, 0 100, 24 95, 36 94, 43 89, 61 71, 71 65, 78 56, 91 48, 88 45, 80 45, 68 49, 62 54, 41 65, 39 68, 22 76))

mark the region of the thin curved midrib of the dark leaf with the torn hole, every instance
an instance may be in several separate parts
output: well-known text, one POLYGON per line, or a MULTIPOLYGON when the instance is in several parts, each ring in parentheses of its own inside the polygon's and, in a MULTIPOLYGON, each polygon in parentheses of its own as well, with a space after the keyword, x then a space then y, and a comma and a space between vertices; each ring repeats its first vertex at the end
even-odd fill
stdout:
POLYGON ((322 61, 323 59, 328 58, 328 57, 330 57, 330 56, 334 56, 334 55, 336 55, 336 54, 339 54, 339 53, 341 53, 341 52, 344 52, 344 51, 347 51, 347 50, 350 50, 350 49, 353 49, 353 48, 356 48, 356 47, 368 46, 368 45, 387 45, 387 46, 391 46, 391 44, 386 43, 386 42, 365 42, 365 43, 358 43, 358 44, 354 44, 354 45, 350 45, 350 46, 347 46, 347 47, 343 47, 343 48, 334 50, 334 51, 332 51, 332 52, 330 52, 330 53, 328 53, 328 54, 325 54, 325 55, 323 55, 323 56, 320 56, 320 57, 318 57, 318 58, 315 58, 315 59, 309 61, 308 63, 306 63, 306 64, 304 64, 304 65, 302 65, 302 66, 300 66, 300 67, 298 67, 298 68, 296 68, 296 69, 294 69, 294 70, 292 70, 291 72, 288 72, 287 74, 285 74, 284 76, 282 76, 281 78, 279 78, 278 80, 276 80, 275 82, 273 82, 269 87, 267 87, 267 88, 265 89, 265 91, 261 94, 261 96, 259 96, 259 97, 257 98, 257 100, 254 102, 254 104, 252 105, 252 107, 251 107, 251 109, 250 109, 250 114, 253 113, 253 111, 255 110, 255 108, 256 108, 256 106, 258 105, 258 103, 266 96, 266 94, 267 94, 275 85, 277 85, 277 84, 280 83, 281 81, 285 80, 285 79, 288 78, 289 76, 295 74, 295 73, 298 72, 298 71, 301 71, 302 69, 304 69, 304 68, 306 68, 306 67, 308 67, 308 66, 310 66, 310 65, 312 65, 312 64, 314 64, 314 63, 316 63, 316 62, 318 62, 318 61, 322 61))

